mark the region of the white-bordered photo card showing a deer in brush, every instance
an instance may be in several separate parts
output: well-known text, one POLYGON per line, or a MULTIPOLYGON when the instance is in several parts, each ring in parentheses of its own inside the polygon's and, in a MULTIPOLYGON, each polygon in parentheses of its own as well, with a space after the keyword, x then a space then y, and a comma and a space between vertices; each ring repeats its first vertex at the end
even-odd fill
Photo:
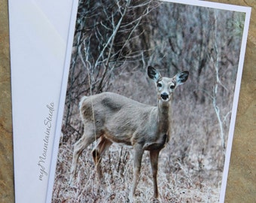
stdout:
POLYGON ((78 1, 47 202, 224 202, 250 14, 78 1))

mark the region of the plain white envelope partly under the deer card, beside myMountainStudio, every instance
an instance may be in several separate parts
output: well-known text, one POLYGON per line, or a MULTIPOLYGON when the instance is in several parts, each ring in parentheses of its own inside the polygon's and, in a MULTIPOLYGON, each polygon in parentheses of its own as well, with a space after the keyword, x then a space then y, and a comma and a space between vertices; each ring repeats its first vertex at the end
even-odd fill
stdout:
POLYGON ((45 201, 72 3, 9 1, 16 202, 45 201))

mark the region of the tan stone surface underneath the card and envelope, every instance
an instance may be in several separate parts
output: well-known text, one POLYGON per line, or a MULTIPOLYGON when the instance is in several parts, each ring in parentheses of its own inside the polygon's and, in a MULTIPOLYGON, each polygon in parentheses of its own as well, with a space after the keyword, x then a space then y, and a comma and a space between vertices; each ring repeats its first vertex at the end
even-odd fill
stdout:
MULTIPOLYGON (((255 0, 211 2, 252 8, 225 202, 256 202, 255 0)), ((14 202, 8 0, 0 0, 0 93, 0 202, 14 202)))

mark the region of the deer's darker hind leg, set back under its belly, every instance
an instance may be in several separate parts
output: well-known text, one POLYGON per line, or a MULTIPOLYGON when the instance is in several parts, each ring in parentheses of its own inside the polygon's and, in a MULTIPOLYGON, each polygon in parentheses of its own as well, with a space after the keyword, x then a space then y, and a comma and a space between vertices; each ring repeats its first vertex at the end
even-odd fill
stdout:
POLYGON ((102 155, 105 153, 106 150, 111 146, 112 142, 109 141, 107 138, 104 138, 103 136, 99 139, 99 143, 97 146, 93 149, 93 161, 96 166, 97 174, 99 177, 99 180, 103 181, 103 175, 102 175, 102 168, 100 165, 102 155))

